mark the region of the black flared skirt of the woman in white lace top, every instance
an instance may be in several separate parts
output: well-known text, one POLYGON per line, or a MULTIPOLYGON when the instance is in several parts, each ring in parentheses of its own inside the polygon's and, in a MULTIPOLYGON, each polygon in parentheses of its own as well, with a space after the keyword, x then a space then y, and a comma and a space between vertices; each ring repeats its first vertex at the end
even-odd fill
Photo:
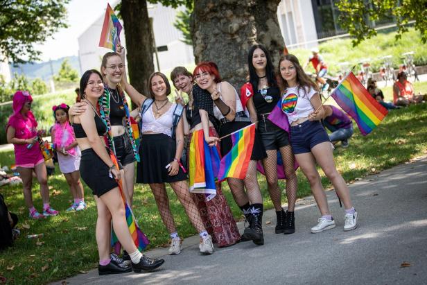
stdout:
POLYGON ((173 162, 175 152, 176 141, 168 135, 142 135, 141 146, 139 146, 141 162, 137 164, 137 183, 171 183, 186 180, 187 175, 181 167, 177 175, 173 176, 169 176, 166 169, 166 165, 173 162))

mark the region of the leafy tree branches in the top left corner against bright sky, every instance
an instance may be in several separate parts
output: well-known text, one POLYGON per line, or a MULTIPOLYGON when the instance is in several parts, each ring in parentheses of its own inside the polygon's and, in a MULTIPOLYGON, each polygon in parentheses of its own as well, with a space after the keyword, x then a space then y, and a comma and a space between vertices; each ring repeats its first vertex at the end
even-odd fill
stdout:
MULTIPOLYGON (((41 44, 67 28, 69 0, 3 0, 0 4, 0 50, 14 64, 40 59, 41 44)), ((0 58, 1 59, 1 58, 0 58)))

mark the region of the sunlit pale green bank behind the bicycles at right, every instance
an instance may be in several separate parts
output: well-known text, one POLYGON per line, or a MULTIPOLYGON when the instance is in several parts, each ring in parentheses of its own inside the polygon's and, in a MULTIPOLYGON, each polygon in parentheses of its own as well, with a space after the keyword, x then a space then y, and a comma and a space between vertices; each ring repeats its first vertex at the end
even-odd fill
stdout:
MULTIPOLYGON (((392 55, 392 66, 399 68, 403 63, 402 53, 414 51, 415 65, 427 64, 426 44, 421 42, 421 37, 414 28, 409 28, 407 33, 401 35, 401 40, 397 41, 396 32, 378 33, 375 37, 365 40, 363 44, 353 46, 351 39, 336 39, 319 44, 320 53, 326 64, 328 64, 328 74, 336 75, 340 71, 340 63, 349 62, 350 67, 357 64, 361 59, 371 59, 371 71, 378 72, 383 65, 381 57, 392 55)), ((308 49, 292 49, 293 53, 304 64, 308 60, 311 52, 308 49)), ((311 64, 308 65, 311 68, 311 64)), ((308 70, 308 69, 307 69, 308 70)), ((358 70, 358 67, 356 67, 358 70)))

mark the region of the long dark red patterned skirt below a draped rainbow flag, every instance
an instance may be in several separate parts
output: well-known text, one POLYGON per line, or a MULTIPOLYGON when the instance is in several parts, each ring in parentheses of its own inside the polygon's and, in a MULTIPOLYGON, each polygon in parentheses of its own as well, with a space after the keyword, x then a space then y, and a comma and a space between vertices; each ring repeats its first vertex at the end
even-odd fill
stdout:
MULTIPOLYGON (((187 141, 187 157, 189 157, 192 133, 187 141)), ((218 137, 214 127, 209 128, 211 137, 218 137)), ((219 150, 218 150, 219 152, 219 150)), ((187 161, 187 164, 189 162, 187 161)), ((187 165, 187 169, 189 169, 187 165)), ((206 201, 204 194, 191 193, 195 206, 198 208, 202 222, 207 232, 212 236, 214 243, 222 248, 234 245, 241 240, 236 221, 234 221, 232 211, 227 204, 227 200, 221 191, 221 184, 216 184, 216 196, 212 200, 206 201)))

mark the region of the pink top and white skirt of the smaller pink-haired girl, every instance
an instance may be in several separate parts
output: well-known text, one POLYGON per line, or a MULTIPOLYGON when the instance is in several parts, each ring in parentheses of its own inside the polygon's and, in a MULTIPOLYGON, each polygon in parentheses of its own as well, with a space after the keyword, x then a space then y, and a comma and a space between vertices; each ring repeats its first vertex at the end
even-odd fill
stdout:
MULTIPOLYGON (((76 140, 74 135, 73 128, 69 125, 68 121, 66 121, 63 125, 60 123, 55 123, 55 126, 52 128, 52 132, 55 137, 55 148, 64 148, 69 146, 76 140)), ((80 168, 80 148, 75 146, 70 150, 67 150, 68 155, 63 155, 59 151, 56 152, 58 155, 58 164, 60 164, 60 171, 62 173, 71 173, 74 171, 78 171, 80 168)))

